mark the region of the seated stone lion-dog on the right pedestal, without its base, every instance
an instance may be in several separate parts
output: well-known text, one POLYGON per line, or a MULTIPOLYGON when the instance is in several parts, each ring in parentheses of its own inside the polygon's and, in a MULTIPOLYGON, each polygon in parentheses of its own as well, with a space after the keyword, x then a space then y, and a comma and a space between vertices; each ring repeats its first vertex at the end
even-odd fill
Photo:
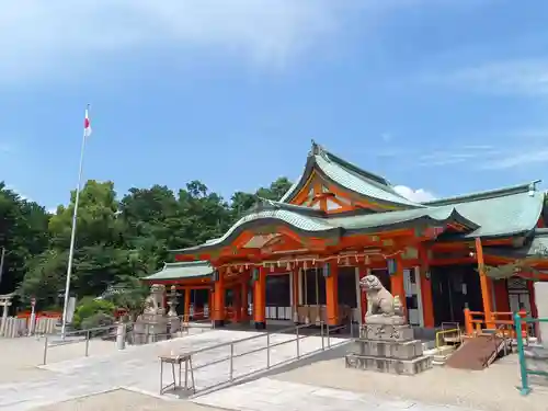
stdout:
POLYGON ((375 275, 366 275, 359 281, 359 287, 367 295, 367 312, 365 317, 383 315, 385 317, 403 317, 403 305, 399 296, 392 296, 375 275))

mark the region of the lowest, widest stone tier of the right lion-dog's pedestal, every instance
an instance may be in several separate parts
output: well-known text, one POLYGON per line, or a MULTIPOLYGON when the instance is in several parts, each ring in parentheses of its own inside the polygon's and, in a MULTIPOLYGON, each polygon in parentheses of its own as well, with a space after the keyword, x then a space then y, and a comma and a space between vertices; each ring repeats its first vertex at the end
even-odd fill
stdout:
POLYGON ((420 356, 413 359, 379 358, 368 355, 349 354, 345 357, 347 368, 415 375, 432 368, 432 357, 420 356))

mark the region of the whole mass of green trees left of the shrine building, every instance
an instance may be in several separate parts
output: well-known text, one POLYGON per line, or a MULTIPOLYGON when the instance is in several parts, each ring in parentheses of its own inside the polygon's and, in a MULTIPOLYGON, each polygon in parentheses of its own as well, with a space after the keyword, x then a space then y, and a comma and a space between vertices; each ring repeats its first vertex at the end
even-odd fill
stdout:
MULTIPOLYGON (((168 250, 221 236, 258 197, 279 199, 289 186, 279 178, 227 202, 199 181, 178 192, 153 185, 118 196, 113 182, 90 180, 80 192, 71 290, 81 299, 125 289, 113 301, 135 312, 144 294, 137 278, 170 261, 168 250)), ((0 294, 18 289, 23 304, 35 297, 38 309, 61 304, 75 199, 76 191, 49 215, 0 183, 0 247, 7 250, 0 294)))

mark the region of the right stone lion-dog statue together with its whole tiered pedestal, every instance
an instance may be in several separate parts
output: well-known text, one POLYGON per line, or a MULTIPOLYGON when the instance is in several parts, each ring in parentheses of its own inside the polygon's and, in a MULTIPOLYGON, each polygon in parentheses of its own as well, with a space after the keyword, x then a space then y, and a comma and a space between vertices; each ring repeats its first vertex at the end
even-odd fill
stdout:
POLYGON ((346 367, 404 375, 432 368, 432 358, 423 355, 398 297, 374 275, 364 277, 361 286, 367 293, 367 313, 359 338, 345 357, 346 367))

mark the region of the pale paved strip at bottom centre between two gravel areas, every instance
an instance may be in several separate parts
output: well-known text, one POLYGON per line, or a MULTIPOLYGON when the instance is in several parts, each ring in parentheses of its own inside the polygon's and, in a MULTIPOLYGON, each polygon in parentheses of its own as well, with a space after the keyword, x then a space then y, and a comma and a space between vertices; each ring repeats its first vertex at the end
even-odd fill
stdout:
MULTIPOLYGON (((342 359, 341 359, 342 361, 342 359)), ((401 377, 408 378, 408 377, 401 377)), ((192 400, 195 403, 239 411, 472 411, 452 406, 383 399, 307 384, 261 378, 192 400)))

